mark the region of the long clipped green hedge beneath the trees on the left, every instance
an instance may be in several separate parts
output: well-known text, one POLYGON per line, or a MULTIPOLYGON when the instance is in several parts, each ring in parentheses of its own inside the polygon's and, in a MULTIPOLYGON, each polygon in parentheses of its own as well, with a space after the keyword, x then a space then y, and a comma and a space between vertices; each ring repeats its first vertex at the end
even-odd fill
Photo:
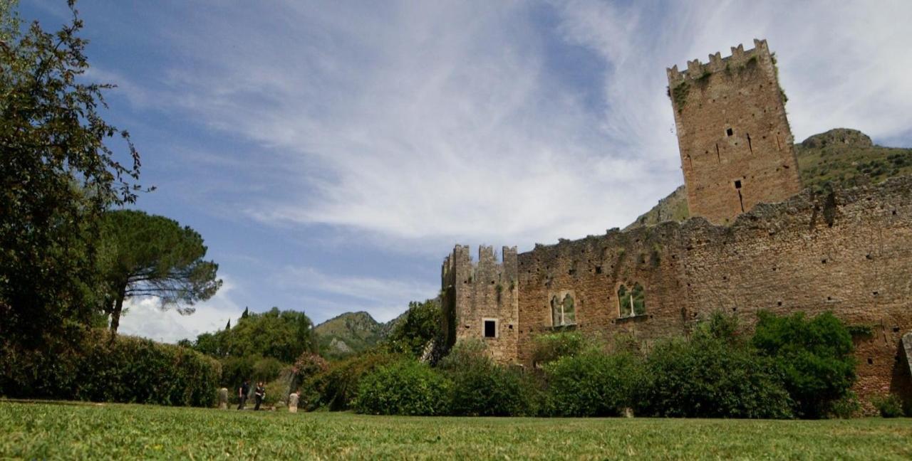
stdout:
POLYGON ((93 402, 212 406, 221 364, 173 344, 93 331, 44 350, 2 345, 0 394, 93 402))

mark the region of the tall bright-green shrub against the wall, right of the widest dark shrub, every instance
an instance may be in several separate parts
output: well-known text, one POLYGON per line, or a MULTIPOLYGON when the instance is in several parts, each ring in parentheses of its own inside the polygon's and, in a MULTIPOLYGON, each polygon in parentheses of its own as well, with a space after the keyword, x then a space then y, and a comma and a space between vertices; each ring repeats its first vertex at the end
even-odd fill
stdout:
POLYGON ((796 415, 824 417, 855 383, 852 335, 830 312, 812 320, 760 312, 751 343, 781 370, 796 415))

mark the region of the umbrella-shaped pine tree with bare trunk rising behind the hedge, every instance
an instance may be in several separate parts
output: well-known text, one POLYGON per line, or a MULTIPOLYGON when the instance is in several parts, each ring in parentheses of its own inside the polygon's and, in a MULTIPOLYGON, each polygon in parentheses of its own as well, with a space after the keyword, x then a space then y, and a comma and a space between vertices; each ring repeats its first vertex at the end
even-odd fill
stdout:
POLYGON ((109 211, 101 231, 100 265, 108 286, 105 312, 117 332, 123 302, 153 296, 161 308, 192 313, 194 302, 212 297, 222 286, 218 264, 203 261, 202 237, 175 220, 138 210, 109 211))

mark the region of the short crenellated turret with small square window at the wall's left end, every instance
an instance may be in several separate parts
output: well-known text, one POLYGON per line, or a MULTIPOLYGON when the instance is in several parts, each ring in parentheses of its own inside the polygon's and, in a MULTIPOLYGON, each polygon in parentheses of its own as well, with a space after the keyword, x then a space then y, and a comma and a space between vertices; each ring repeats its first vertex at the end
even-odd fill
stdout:
POLYGON ((478 262, 469 247, 457 245, 443 262, 444 332, 447 343, 474 338, 487 343, 498 362, 515 360, 519 323, 516 247, 503 247, 498 262, 492 247, 482 246, 478 262), (495 322, 494 337, 485 337, 484 322, 495 322))

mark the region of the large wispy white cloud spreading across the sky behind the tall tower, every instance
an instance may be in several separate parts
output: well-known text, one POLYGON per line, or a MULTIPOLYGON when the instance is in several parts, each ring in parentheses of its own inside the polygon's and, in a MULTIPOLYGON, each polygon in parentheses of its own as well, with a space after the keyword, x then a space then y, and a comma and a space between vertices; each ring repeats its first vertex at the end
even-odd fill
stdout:
POLYGON ((912 29, 896 25, 910 8, 578 1, 555 6, 556 31, 528 4, 291 8, 286 36, 204 24, 219 46, 185 45, 208 67, 171 78, 185 108, 282 152, 283 193, 250 200, 257 220, 528 245, 623 226, 673 190, 665 67, 755 36, 780 57, 797 138, 896 136, 912 121, 912 29), (604 112, 545 66, 549 33, 603 60, 604 112))

